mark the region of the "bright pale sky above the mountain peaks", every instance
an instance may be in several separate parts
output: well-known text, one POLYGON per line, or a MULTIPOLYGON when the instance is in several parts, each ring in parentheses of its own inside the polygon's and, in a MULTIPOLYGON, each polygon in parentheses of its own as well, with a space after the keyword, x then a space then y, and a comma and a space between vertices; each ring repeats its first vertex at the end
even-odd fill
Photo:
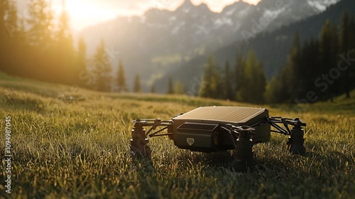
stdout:
MULTIPOLYGON (((55 14, 62 11, 63 0, 51 0, 55 14)), ((70 15, 70 22, 74 31, 107 21, 116 16, 141 15, 149 8, 175 10, 185 0, 67 0, 65 9, 70 15)), ((209 9, 220 12, 224 6, 233 4, 238 0, 191 0, 192 4, 199 5, 202 2, 209 9)), ((244 0, 250 4, 256 4, 260 0, 244 0)), ((19 0, 19 13, 26 16, 27 0, 19 0)))

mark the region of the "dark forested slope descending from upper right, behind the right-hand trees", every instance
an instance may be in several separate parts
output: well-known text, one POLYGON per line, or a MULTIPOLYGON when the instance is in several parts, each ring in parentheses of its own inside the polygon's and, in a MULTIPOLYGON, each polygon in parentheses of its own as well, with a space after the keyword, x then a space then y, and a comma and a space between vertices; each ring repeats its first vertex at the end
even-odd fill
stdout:
MULTIPOLYGON (((343 0, 339 1, 339 3, 335 4, 334 6, 330 6, 322 14, 311 16, 310 18, 306 18, 296 23, 291 23, 288 26, 283 26, 282 28, 272 32, 260 33, 256 36, 256 38, 249 39, 249 45, 246 43, 246 41, 239 41, 224 48, 220 48, 219 50, 215 51, 214 53, 210 53, 209 55, 214 57, 219 70, 221 73, 223 73, 224 65, 226 62, 231 65, 231 68, 236 68, 239 60, 238 57, 241 55, 246 57, 248 52, 253 50, 256 54, 256 58, 261 60, 266 79, 268 82, 270 82, 273 77, 278 75, 280 70, 282 70, 288 62, 288 55, 291 51, 295 35, 298 35, 297 37, 299 38, 300 48, 303 48, 304 45, 308 45, 307 43, 320 41, 322 27, 324 26, 324 23, 329 20, 329 23, 332 23, 332 26, 335 26, 336 28, 335 31, 337 34, 338 42, 337 46, 335 47, 337 49, 334 49, 332 52, 337 54, 332 56, 337 56, 339 60, 339 53, 342 52, 342 50, 338 48, 342 34, 342 16, 346 10, 349 16, 349 21, 347 22, 349 23, 349 29, 347 29, 346 32, 349 32, 349 35, 353 36, 354 29, 352 27, 354 27, 354 25, 351 25, 351 23, 354 23, 354 21, 351 21, 350 19, 354 18, 355 16, 355 1, 343 0)), ((346 40, 346 43, 354 46, 354 44, 351 44, 353 43, 351 40, 346 40)), ((171 75, 169 76, 175 77, 175 80, 179 80, 180 82, 186 82, 188 88, 196 84, 200 85, 198 84, 199 80, 202 80, 200 74, 202 74, 204 71, 204 65, 207 63, 207 57, 209 55, 201 55, 193 58, 190 60, 190 62, 184 63, 182 66, 171 72, 171 75)), ((319 54, 316 56, 318 57, 319 54)), ((314 66, 315 63, 312 63, 312 59, 309 63, 307 63, 307 60, 305 60, 302 65, 304 65, 306 69, 305 73, 309 73, 307 70, 316 67, 314 66)), ((333 67, 337 67, 337 65, 334 65, 333 67)), ((323 70, 320 70, 317 75, 322 75, 323 72, 323 70)), ((239 77, 237 74, 232 76, 234 78, 239 77)), ((314 86, 315 79, 308 79, 307 81, 310 82, 312 86, 314 86)), ((157 81, 156 84, 159 85, 163 84, 164 82, 167 82, 166 78, 157 81)), ((278 84, 283 85, 287 83, 278 82, 278 84)), ((295 90, 295 88, 290 88, 290 90, 295 90)))

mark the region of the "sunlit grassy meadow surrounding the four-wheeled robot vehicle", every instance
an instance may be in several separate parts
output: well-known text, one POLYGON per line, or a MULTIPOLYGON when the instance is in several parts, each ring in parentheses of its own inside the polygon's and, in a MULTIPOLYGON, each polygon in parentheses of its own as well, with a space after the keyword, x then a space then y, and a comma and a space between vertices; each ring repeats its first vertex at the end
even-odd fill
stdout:
POLYGON ((184 96, 109 94, 0 74, 0 198, 353 198, 355 92, 300 107, 184 96), (256 168, 234 173, 229 153, 177 149, 151 139, 151 161, 129 153, 132 119, 170 119, 200 106, 266 107, 306 119, 305 156, 287 138, 253 147, 256 168), (5 118, 11 117, 11 194, 6 193, 5 118))

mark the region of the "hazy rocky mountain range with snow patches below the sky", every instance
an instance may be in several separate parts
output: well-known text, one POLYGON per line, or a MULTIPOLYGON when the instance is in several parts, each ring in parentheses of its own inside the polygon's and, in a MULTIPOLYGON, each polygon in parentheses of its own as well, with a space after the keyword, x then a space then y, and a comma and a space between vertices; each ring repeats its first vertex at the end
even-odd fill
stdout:
MULTIPOLYGON (((107 48, 119 52, 112 63, 114 71, 121 59, 129 85, 138 74, 144 90, 155 84, 155 90, 165 92, 168 76, 186 86, 194 77, 200 78, 209 53, 216 54, 221 65, 226 60, 233 64, 235 54, 240 50, 237 41, 245 48, 258 47, 256 41, 260 42, 261 38, 273 41, 275 38, 265 37, 281 27, 318 15, 337 1, 262 0, 255 6, 237 1, 221 13, 214 13, 206 4, 195 6, 186 0, 175 11, 150 9, 143 16, 118 17, 86 28, 81 35, 90 55, 101 39, 107 48)), ((288 44, 289 36, 280 35, 278 39, 288 44)), ((281 49, 285 51, 287 46, 281 49)), ((264 50, 273 52, 273 49, 264 50)), ((262 56, 269 79, 279 70, 285 56, 287 54, 277 59, 276 66, 263 60, 262 56)))

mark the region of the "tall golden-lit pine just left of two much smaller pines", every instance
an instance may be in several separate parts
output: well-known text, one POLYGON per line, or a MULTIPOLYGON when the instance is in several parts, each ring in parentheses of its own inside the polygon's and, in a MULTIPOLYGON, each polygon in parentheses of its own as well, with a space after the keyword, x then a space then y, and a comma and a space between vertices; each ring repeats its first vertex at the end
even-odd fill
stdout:
POLYGON ((102 40, 97 47, 97 51, 94 57, 94 73, 96 75, 94 81, 94 89, 110 92, 111 91, 111 63, 107 58, 107 53, 105 51, 105 44, 102 40))

